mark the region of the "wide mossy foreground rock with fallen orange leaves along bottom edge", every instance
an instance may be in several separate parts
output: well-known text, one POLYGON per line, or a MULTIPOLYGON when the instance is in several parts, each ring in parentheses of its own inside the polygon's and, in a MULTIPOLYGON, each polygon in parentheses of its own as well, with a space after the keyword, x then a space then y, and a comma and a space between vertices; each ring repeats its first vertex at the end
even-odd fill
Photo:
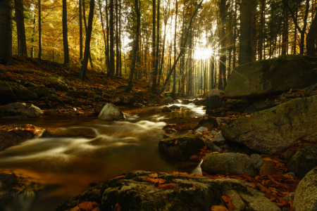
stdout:
POLYGON ((237 210, 279 211, 264 193, 251 188, 251 184, 237 179, 209 179, 206 177, 186 177, 173 174, 159 174, 163 181, 154 185, 155 172, 135 171, 124 177, 106 181, 80 193, 66 203, 58 205, 55 211, 70 210, 82 201, 99 203, 101 211, 114 210, 200 210, 210 211, 211 207, 223 205, 226 193, 236 204, 237 210), (149 177, 151 175, 151 177, 149 177), (146 181, 148 180, 148 181, 146 181), (166 188, 163 185, 169 184, 166 188), (118 206, 118 205, 119 206, 118 206), (117 209, 116 209, 117 210, 117 209))

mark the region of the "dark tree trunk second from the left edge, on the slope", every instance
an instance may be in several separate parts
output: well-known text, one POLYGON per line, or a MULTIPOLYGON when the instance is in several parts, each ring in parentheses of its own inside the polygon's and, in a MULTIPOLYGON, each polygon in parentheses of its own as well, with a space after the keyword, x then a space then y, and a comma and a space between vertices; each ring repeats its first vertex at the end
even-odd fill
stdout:
POLYGON ((24 26, 24 8, 23 0, 15 0, 15 22, 16 30, 18 32, 18 55, 27 56, 27 45, 25 39, 25 26, 24 26))

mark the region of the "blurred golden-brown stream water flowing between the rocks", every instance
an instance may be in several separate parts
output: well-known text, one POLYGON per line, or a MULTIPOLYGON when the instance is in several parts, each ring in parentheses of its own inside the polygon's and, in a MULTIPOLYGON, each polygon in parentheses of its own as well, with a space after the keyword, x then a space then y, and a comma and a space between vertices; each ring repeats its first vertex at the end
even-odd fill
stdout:
MULTIPOLYGON (((164 119, 204 115, 202 106, 186 107, 173 113, 162 113, 162 106, 123 109, 127 120, 120 122, 51 117, 0 120, 0 125, 27 123, 54 128, 61 135, 72 135, 32 139, 0 152, 0 172, 23 175, 39 189, 17 196, 7 210, 54 210, 59 203, 76 196, 89 185, 132 170, 181 171, 175 167, 174 160, 159 152, 158 144, 165 134, 164 119), (85 135, 85 138, 74 136, 76 134, 85 135)), ((201 174, 200 167, 189 173, 193 172, 201 174)))

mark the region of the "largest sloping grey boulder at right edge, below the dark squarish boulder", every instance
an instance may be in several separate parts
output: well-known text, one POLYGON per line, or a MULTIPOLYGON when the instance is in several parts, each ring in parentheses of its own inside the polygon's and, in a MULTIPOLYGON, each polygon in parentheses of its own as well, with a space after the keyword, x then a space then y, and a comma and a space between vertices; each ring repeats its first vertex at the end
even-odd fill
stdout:
POLYGON ((225 124, 225 139, 259 153, 284 151, 302 137, 317 138, 317 96, 297 98, 225 124))

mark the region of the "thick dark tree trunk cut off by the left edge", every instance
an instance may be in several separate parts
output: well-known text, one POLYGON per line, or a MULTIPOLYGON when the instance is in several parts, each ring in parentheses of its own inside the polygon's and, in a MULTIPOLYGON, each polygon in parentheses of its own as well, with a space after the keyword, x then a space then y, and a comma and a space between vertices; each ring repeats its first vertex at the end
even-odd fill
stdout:
POLYGON ((12 1, 0 2, 0 63, 12 65, 12 1))

